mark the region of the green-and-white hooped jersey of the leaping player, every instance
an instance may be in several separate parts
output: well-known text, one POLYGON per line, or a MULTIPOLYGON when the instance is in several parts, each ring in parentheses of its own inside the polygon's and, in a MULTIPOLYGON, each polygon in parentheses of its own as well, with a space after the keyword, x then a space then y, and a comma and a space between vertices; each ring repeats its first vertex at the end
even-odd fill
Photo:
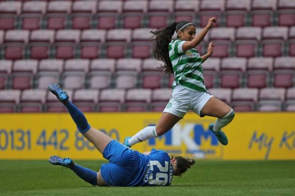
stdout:
POLYGON ((173 65, 175 80, 172 87, 177 84, 193 90, 206 92, 204 84, 202 58, 196 49, 182 51, 185 41, 175 39, 169 43, 169 57, 173 65))

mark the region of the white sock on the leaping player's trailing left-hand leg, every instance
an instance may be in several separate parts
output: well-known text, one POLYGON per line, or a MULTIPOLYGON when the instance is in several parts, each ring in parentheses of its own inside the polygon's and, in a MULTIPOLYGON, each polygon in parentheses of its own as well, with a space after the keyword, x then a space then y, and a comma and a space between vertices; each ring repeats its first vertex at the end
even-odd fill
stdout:
POLYGON ((139 131, 137 134, 135 134, 132 138, 129 139, 129 144, 132 146, 134 144, 137 144, 141 141, 148 140, 150 138, 157 138, 157 132, 155 126, 149 126, 145 127, 141 131, 139 131))

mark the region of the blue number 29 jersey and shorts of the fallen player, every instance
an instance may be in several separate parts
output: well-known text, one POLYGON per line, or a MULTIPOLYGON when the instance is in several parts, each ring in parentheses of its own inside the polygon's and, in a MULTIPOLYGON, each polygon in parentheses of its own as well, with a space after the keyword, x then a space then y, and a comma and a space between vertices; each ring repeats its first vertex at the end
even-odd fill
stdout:
POLYGON ((108 186, 169 186, 172 182, 173 165, 163 150, 153 148, 144 155, 113 140, 103 156, 110 161, 100 168, 108 186))

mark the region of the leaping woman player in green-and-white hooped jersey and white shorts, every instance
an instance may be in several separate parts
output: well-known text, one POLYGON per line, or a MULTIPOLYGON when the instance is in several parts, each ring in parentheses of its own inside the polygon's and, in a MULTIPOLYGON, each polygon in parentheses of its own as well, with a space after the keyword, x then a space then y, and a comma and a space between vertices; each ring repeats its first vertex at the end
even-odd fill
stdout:
POLYGON ((209 43, 207 54, 203 56, 195 49, 215 22, 214 17, 210 18, 207 26, 197 35, 195 25, 188 21, 180 21, 166 28, 151 31, 155 43, 154 56, 164 62, 160 68, 175 76, 173 91, 156 126, 148 126, 133 137, 125 138, 124 145, 131 147, 138 142, 165 134, 188 110, 201 117, 217 117, 216 122, 209 125, 209 130, 221 144, 228 144, 221 128, 234 119, 235 112, 230 106, 212 96, 204 84, 202 63, 211 56, 215 45, 213 42, 209 43), (174 32, 177 32, 177 39, 171 41, 174 32))

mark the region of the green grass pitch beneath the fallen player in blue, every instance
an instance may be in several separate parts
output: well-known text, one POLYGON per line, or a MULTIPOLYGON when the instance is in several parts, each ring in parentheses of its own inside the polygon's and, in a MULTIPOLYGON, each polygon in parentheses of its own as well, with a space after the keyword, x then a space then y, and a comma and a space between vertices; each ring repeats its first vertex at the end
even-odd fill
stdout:
MULTIPOLYGON (((102 161, 76 161, 98 170, 102 161)), ((0 196, 294 196, 295 161, 197 161, 170 187, 94 187, 44 161, 0 161, 0 196), (213 195, 214 194, 214 195, 213 195)))

